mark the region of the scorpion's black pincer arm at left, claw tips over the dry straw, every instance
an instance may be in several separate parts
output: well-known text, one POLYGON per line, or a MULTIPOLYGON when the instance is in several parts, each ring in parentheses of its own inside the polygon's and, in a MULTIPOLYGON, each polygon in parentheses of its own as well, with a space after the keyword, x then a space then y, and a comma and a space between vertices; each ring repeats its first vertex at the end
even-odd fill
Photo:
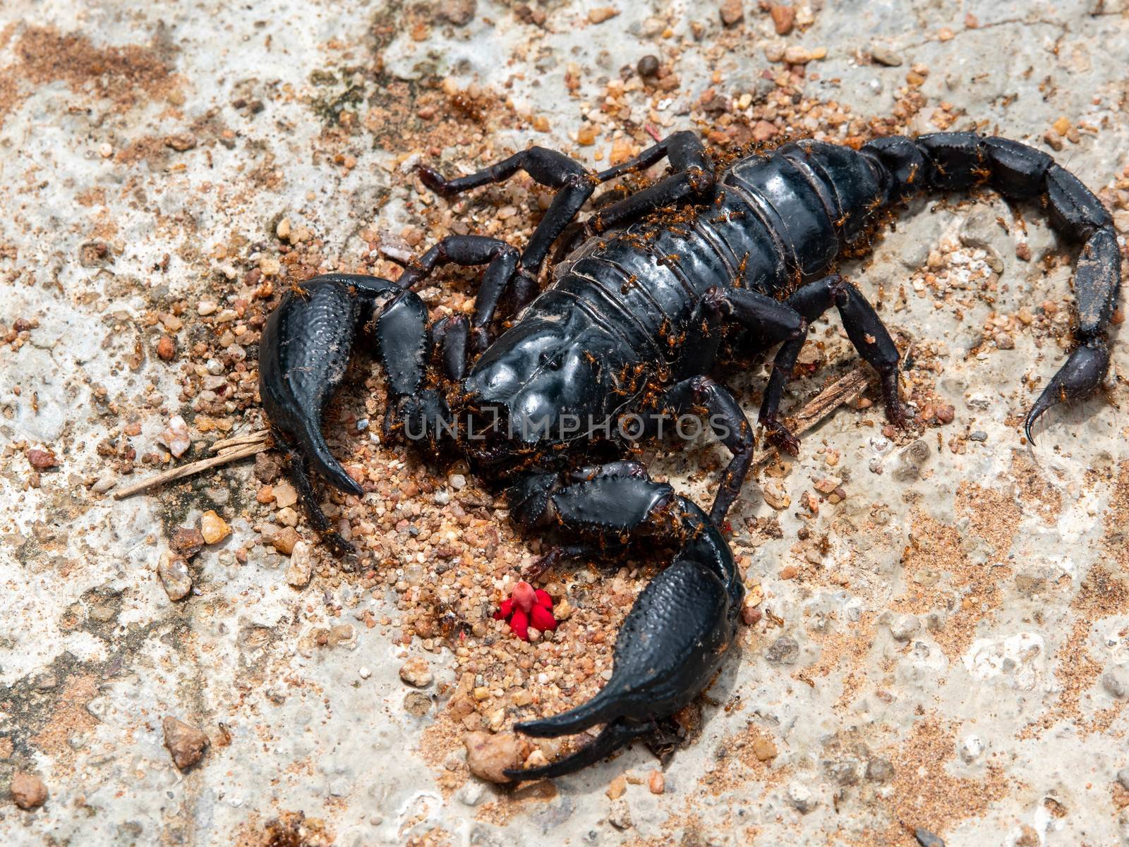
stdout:
MULTIPOLYGON (((420 391, 423 380, 427 310, 419 297, 388 280, 330 274, 288 291, 271 312, 259 347, 259 390, 277 443, 318 531, 329 519, 318 504, 308 466, 334 487, 356 496, 365 491, 330 452, 322 416, 344 379, 358 329, 376 342, 385 367, 390 414, 421 417, 443 413, 434 391, 420 391), (380 300, 390 297, 380 305, 380 300)), ((339 537, 331 546, 347 552, 339 537)))

